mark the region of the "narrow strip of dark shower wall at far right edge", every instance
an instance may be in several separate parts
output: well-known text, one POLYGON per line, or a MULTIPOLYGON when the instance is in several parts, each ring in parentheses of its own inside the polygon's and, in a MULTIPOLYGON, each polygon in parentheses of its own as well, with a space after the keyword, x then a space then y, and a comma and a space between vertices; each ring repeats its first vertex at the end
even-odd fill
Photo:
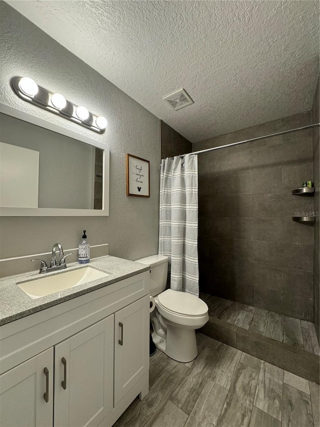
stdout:
MULTIPOLYGON (((319 97, 320 97, 320 88, 318 85, 316 87, 314 95, 314 103, 312 108, 312 123, 319 123, 319 97)), ((314 211, 320 212, 320 153, 319 153, 319 135, 320 129, 313 128, 312 132, 312 145, 313 145, 313 180, 315 187, 314 194, 314 211)), ((314 262, 314 272, 313 272, 313 284, 314 284, 314 325, 316 334, 319 339, 319 317, 320 317, 320 308, 319 308, 319 299, 320 299, 320 249, 319 242, 320 240, 320 217, 315 217, 314 224, 314 252, 313 252, 313 262, 314 262)))

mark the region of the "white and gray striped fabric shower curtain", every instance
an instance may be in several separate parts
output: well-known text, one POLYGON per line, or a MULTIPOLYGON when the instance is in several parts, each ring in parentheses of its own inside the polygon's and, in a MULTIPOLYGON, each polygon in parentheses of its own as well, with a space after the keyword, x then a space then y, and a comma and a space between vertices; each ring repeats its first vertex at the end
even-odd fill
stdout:
POLYGON ((187 154, 161 160, 159 251, 169 257, 170 287, 199 294, 198 166, 187 154))

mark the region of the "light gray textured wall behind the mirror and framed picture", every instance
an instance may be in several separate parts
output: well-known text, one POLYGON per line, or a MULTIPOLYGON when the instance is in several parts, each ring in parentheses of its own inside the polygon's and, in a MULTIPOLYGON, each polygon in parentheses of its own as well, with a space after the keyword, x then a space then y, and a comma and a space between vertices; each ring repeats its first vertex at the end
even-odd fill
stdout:
POLYGON ((109 243, 110 255, 137 259, 157 253, 159 120, 3 2, 0 32, 0 102, 110 148, 109 217, 1 218, 0 258, 46 252, 55 241, 65 248, 77 246, 84 228, 92 245, 109 243), (105 116, 106 132, 95 134, 23 102, 10 89, 13 76, 31 77, 92 113, 105 116), (150 198, 126 196, 127 152, 150 161, 150 198))

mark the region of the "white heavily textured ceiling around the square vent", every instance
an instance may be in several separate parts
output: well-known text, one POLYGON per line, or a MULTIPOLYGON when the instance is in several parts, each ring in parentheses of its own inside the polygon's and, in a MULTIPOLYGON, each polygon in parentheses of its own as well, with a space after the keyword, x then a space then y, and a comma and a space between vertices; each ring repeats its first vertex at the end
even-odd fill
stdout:
POLYGON ((7 3, 191 142, 312 107, 317 1, 7 3))

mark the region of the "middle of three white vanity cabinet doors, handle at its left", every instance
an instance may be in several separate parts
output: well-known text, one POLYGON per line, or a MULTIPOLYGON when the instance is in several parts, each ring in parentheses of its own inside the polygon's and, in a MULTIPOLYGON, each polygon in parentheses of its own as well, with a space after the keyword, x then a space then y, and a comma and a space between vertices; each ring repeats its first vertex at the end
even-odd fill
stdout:
POLYGON ((54 346, 54 426, 98 425, 113 403, 113 314, 54 346))

